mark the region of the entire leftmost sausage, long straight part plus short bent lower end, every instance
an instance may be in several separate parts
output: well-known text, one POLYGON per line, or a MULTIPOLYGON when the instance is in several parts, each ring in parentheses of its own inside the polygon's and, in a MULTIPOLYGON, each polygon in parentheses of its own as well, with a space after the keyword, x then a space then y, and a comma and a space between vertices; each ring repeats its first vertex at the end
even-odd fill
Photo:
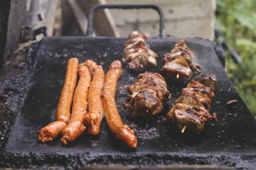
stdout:
POLYGON ((55 122, 50 123, 46 127, 43 127, 39 131, 38 139, 42 142, 52 141, 55 139, 67 123, 70 120, 70 108, 73 99, 74 90, 76 88, 77 79, 77 69, 78 69, 78 59, 71 58, 67 62, 67 72, 63 82, 63 88, 61 91, 61 96, 58 102, 58 107, 55 113, 55 122))

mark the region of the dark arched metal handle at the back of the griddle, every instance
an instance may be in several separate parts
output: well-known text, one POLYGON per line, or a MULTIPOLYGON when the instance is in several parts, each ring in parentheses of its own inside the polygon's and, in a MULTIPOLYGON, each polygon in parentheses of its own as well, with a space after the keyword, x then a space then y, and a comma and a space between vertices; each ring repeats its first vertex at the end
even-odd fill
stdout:
POLYGON ((154 9, 158 12, 160 16, 160 34, 159 37, 163 38, 166 36, 165 33, 165 26, 164 26, 164 14, 162 9, 157 6, 157 5, 152 5, 152 4, 105 4, 105 5, 95 5, 90 9, 90 13, 88 16, 88 25, 87 25, 87 32, 86 36, 92 36, 93 35, 93 14, 96 10, 98 9, 104 9, 104 8, 109 8, 109 9, 140 9, 140 8, 151 8, 154 9))

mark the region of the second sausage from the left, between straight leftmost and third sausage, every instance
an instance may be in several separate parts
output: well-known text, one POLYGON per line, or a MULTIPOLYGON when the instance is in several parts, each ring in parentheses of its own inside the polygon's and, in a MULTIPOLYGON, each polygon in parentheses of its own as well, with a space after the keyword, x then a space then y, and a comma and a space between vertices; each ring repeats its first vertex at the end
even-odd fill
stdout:
POLYGON ((67 144, 80 136, 84 130, 84 117, 87 113, 87 95, 90 87, 91 75, 86 66, 78 69, 79 82, 73 98, 73 107, 70 122, 62 131, 61 142, 67 144))

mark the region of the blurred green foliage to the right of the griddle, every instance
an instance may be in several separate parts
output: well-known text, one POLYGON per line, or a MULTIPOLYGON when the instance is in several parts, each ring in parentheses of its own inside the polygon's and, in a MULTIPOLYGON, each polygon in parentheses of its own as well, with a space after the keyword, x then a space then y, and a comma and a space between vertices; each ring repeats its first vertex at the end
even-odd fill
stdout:
MULTIPOLYGON (((244 67, 226 54, 226 71, 250 111, 256 116, 256 0, 217 0, 216 30, 242 57, 244 67)), ((218 39, 217 41, 223 41, 218 39)))

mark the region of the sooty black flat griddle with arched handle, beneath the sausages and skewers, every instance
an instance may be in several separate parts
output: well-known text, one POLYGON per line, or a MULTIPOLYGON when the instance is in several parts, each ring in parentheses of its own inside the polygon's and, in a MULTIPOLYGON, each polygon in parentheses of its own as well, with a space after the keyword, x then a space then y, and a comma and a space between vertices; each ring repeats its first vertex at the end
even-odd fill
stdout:
MULTIPOLYGON (((163 12, 154 5, 94 6, 89 15, 87 36, 44 37, 28 51, 28 66, 21 73, 1 77, 0 100, 8 101, 2 113, 10 122, 2 126, 6 132, 0 142, 1 166, 76 168, 88 165, 217 164, 253 169, 256 166, 256 119, 227 76, 219 59, 221 55, 217 55, 220 47, 202 39, 187 39, 187 45, 195 53, 194 61, 202 65, 201 74, 211 72, 218 77, 218 93, 210 111, 217 113, 218 121, 207 122, 201 133, 186 131, 181 134, 177 127, 164 122, 171 104, 186 87, 174 82, 167 82, 172 99, 164 105, 160 116, 130 121, 128 110, 123 108, 128 94, 124 85, 133 84, 138 74, 123 65, 116 104, 123 122, 136 133, 136 150, 125 150, 113 138, 104 119, 97 136, 84 133, 67 146, 61 145, 60 137, 44 144, 38 142, 38 130, 55 119, 67 60, 71 57, 77 57, 80 62, 93 59, 106 73, 113 60, 122 58, 127 37, 91 37, 93 11, 99 8, 156 9, 160 14, 160 36, 148 38, 147 43, 160 59, 180 40, 165 35, 163 12), (224 105, 232 99, 238 100, 238 107, 227 110, 224 105)), ((157 67, 150 71, 160 71, 163 67, 160 59, 157 67)))

